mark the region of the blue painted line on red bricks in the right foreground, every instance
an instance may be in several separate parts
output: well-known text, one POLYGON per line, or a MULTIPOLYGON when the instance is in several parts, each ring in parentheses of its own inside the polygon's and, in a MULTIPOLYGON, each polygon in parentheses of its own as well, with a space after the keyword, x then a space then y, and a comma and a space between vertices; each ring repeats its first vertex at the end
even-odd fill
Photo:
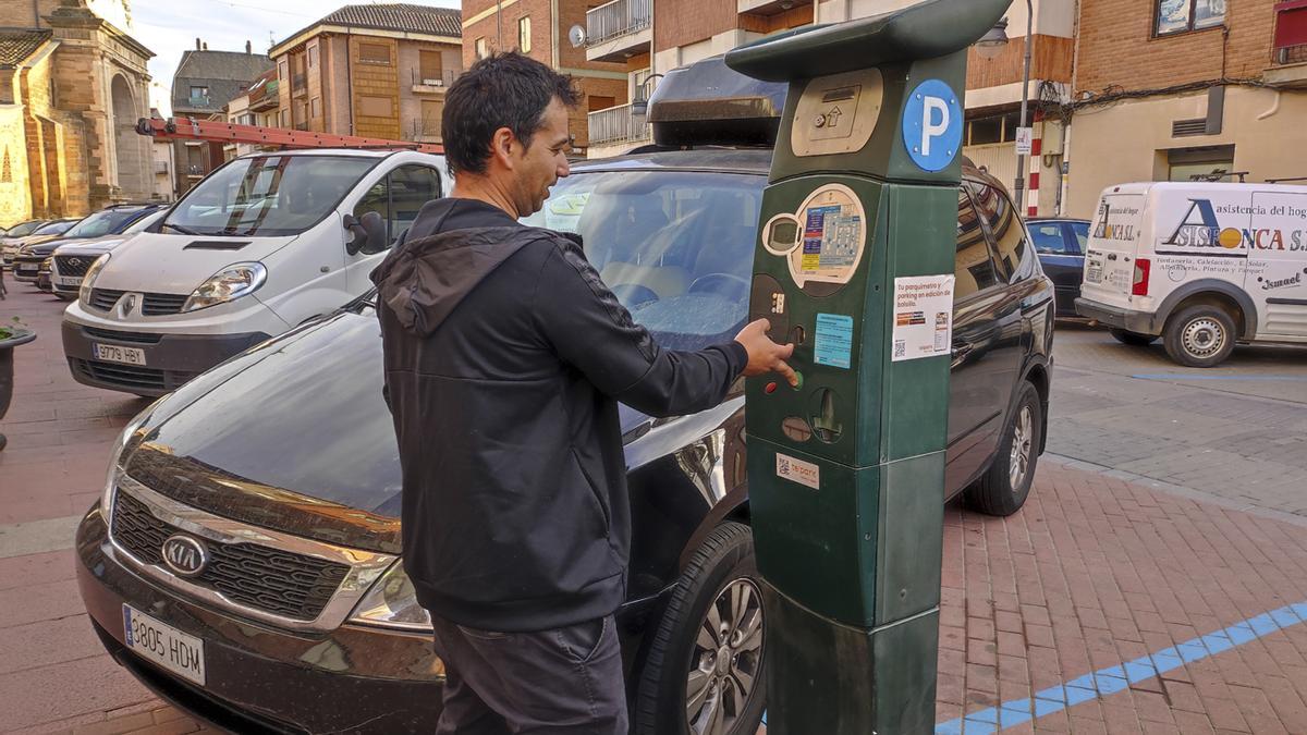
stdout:
POLYGON ((935 726, 935 735, 989 735, 1006 727, 1039 719, 1046 714, 1073 708, 1099 696, 1115 694, 1128 689, 1131 684, 1145 681, 1159 674, 1180 668, 1185 663, 1227 651, 1255 638, 1302 623, 1307 623, 1307 600, 1264 612, 1229 628, 1191 638, 1174 647, 1162 649, 1120 666, 1108 666, 1070 681, 1040 689, 1029 698, 1012 700, 997 708, 967 713, 959 718, 941 722, 935 726))

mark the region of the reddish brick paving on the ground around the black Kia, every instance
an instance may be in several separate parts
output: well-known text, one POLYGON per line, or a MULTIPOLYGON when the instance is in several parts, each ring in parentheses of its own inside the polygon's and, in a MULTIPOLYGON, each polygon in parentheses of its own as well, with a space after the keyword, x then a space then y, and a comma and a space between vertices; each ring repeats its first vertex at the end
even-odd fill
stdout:
MULTIPOLYGON (((145 402, 72 382, 60 311, 25 285, 0 302, 42 333, 0 426, 0 731, 199 731, 77 598, 67 530, 145 402)), ((1307 606, 1281 609, 1307 603, 1307 528, 1043 462, 1019 514, 954 504, 944 538, 938 732, 1307 732, 1307 606), (1140 659, 1165 671, 1115 668, 1140 659)))

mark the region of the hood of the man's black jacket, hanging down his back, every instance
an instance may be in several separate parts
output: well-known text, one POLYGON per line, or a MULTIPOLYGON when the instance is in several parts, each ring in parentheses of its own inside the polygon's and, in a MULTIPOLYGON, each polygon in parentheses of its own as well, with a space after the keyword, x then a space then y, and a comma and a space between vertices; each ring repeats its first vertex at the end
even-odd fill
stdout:
POLYGON ((488 217, 488 208, 465 199, 426 204, 413 224, 420 237, 405 241, 372 271, 378 298, 406 331, 430 335, 505 260, 532 242, 558 237, 508 224, 507 216, 488 217), (505 224, 476 226, 488 221, 505 224))

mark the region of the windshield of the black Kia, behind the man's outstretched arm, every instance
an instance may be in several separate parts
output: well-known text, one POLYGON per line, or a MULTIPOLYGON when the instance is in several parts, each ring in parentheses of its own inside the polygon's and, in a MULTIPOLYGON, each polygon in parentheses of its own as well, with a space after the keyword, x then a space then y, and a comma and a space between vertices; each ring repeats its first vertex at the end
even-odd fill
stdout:
POLYGON ((604 282, 668 349, 725 341, 749 311, 763 177, 576 173, 528 225, 580 234, 604 282))

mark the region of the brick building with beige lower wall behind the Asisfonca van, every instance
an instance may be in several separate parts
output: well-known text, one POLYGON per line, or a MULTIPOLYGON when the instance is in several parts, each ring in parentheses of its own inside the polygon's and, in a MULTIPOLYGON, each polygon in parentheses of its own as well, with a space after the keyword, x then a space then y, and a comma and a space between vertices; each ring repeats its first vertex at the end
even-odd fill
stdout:
POLYGON ((1065 212, 1123 182, 1307 177, 1307 3, 1081 0, 1080 29, 1065 212))

